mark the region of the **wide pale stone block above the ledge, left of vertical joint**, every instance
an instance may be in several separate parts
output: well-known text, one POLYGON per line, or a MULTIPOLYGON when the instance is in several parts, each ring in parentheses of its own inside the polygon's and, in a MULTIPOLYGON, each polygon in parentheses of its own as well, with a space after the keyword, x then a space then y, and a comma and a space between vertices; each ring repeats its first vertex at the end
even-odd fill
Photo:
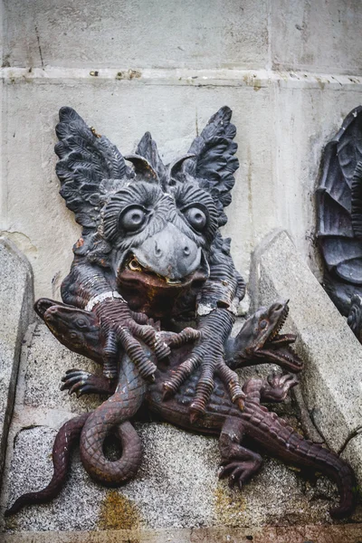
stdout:
POLYGON ((5 0, 9 66, 248 68, 268 59, 261 0, 5 0))

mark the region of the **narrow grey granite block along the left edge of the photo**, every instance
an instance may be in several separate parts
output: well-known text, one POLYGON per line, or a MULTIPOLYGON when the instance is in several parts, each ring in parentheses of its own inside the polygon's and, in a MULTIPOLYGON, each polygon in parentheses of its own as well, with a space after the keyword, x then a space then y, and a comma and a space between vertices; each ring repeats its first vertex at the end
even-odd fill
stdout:
POLYGON ((33 319, 33 273, 14 243, 0 238, 0 474, 24 332, 33 319))

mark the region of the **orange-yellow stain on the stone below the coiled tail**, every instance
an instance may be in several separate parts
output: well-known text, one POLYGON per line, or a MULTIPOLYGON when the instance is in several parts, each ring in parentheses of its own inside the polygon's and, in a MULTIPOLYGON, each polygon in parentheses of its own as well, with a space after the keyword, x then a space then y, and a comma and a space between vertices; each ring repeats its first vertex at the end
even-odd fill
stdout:
POLYGON ((138 529, 139 512, 133 501, 110 491, 100 506, 100 529, 138 529))

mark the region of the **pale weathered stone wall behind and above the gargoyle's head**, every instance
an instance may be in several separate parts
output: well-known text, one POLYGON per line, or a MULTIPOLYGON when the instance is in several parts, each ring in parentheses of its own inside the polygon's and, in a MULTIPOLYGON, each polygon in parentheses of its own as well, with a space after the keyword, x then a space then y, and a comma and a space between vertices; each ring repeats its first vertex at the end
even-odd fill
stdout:
POLYGON ((80 229, 58 194, 57 111, 123 153, 146 130, 167 161, 224 104, 241 167, 224 233, 236 265, 282 227, 313 270, 321 148, 362 102, 359 0, 4 0, 0 233, 60 297, 80 229))

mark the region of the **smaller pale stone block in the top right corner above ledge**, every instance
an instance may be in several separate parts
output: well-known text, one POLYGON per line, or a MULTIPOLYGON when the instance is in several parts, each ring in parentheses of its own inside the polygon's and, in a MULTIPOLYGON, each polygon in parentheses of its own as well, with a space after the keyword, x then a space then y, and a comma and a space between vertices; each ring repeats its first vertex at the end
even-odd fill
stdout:
POLYGON ((360 74, 361 17, 360 2, 274 1, 271 8, 273 66, 278 70, 360 74))

